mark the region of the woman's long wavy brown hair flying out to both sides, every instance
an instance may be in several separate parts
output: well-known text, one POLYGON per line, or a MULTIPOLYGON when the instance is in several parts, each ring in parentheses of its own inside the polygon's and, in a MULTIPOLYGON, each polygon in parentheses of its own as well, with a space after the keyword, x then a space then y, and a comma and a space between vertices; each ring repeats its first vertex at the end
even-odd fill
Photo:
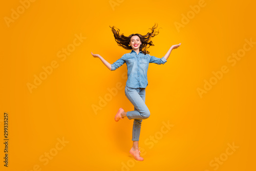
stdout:
POLYGON ((151 38, 154 37, 155 35, 159 34, 159 31, 156 31, 157 28, 157 24, 155 24, 151 30, 151 32, 148 32, 146 35, 141 35, 141 34, 131 34, 130 36, 126 37, 123 34, 120 34, 120 30, 118 28, 116 28, 115 26, 111 27, 111 30, 114 34, 115 40, 118 44, 118 46, 123 47, 126 50, 131 50, 133 49, 130 46, 130 41, 131 41, 131 37, 132 36, 139 36, 140 37, 140 41, 141 41, 141 45, 140 45, 140 51, 142 51, 142 53, 144 54, 148 54, 150 52, 147 51, 148 48, 150 48, 153 45, 153 42, 151 41, 151 38))

